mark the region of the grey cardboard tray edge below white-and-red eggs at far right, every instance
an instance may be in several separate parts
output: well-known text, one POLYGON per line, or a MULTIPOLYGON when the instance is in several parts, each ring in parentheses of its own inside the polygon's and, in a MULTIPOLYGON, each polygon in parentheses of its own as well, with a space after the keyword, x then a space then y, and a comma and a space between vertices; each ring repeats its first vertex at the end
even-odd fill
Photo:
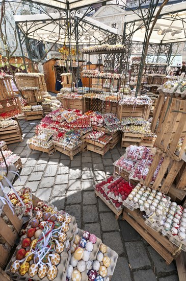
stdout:
POLYGON ((158 226, 156 222, 151 223, 149 220, 145 221, 145 224, 147 224, 149 227, 151 227, 153 230, 157 232, 161 232, 163 236, 167 236, 169 241, 176 245, 178 248, 180 247, 180 250, 183 250, 186 252, 186 241, 180 240, 177 235, 172 235, 170 230, 165 230, 163 226, 158 226))

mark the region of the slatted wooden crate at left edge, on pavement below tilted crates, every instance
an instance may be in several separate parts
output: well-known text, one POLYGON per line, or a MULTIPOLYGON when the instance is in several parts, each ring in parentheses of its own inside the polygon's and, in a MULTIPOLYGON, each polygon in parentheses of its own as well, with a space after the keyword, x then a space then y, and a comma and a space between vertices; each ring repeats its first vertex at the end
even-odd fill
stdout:
POLYGON ((18 125, 0 128, 0 140, 7 144, 22 142, 21 131, 18 125))

